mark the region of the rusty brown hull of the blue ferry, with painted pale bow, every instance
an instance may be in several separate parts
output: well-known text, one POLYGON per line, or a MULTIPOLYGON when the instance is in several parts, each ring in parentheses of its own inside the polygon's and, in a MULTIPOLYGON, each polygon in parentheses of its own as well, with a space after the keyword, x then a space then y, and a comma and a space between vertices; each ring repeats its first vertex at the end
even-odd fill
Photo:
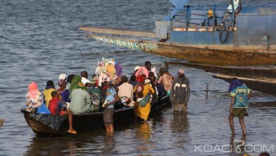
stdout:
POLYGON ((203 64, 239 66, 276 64, 275 50, 246 50, 233 48, 233 46, 230 45, 199 46, 138 39, 123 39, 119 37, 104 37, 99 35, 87 36, 119 47, 141 50, 165 57, 195 61, 203 64))

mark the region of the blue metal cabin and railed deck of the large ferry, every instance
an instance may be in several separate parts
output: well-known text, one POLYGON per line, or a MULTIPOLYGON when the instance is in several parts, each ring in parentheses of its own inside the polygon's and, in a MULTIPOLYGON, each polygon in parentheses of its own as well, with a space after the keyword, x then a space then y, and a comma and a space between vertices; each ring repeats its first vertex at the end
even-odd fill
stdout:
POLYGON ((182 44, 228 45, 231 48, 276 50, 276 6, 244 6, 221 21, 228 5, 174 4, 166 21, 156 21, 156 36, 182 44))

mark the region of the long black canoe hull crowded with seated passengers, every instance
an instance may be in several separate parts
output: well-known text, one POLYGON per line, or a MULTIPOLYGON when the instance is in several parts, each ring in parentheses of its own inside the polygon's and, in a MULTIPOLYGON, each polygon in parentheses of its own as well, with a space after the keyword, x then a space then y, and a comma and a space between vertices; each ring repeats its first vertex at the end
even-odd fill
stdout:
MULTIPOLYGON (((152 104, 150 113, 160 110, 170 104, 170 97, 166 96, 152 104)), ((68 117, 61 115, 45 115, 30 113, 25 108, 21 113, 36 135, 66 135, 69 128, 68 117)), ((115 124, 122 121, 129 121, 135 118, 134 108, 121 108, 115 110, 115 124)), ((85 113, 73 115, 73 128, 77 132, 103 127, 103 112, 85 113)))

